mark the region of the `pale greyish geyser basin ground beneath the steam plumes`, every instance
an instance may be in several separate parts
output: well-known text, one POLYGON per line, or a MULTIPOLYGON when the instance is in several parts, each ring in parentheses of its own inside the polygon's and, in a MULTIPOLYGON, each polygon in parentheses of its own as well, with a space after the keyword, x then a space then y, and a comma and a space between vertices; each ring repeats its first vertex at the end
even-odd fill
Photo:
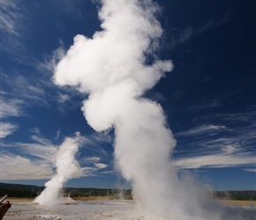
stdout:
MULTIPOLYGON (((34 205, 32 200, 11 199, 13 205, 4 216, 4 220, 160 220, 162 218, 143 216, 136 213, 134 202, 131 201, 88 201, 74 204, 58 204, 54 206, 34 205)), ((252 219, 252 210, 255 213, 255 202, 243 202, 245 213, 252 219)), ((234 204, 232 204, 233 206, 234 204)), ((238 203, 234 210, 241 209, 238 203)), ((171 220, 171 219, 170 219, 171 220)), ((177 220, 177 219, 173 219, 177 220)))

